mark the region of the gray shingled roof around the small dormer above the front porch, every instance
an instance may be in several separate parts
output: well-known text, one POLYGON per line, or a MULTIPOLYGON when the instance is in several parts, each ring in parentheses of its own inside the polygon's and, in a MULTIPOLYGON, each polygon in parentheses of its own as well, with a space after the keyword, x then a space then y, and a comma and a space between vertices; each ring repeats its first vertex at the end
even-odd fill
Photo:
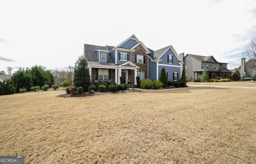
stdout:
MULTIPOLYGON (((84 57, 87 58, 88 63, 99 61, 96 50, 107 51, 107 48, 103 47, 103 46, 99 46, 99 45, 84 44, 84 57)), ((107 55, 108 55, 108 63, 114 63, 112 61, 112 57, 108 53, 107 53, 107 55)), ((102 64, 102 63, 100 63, 100 64, 102 64)))

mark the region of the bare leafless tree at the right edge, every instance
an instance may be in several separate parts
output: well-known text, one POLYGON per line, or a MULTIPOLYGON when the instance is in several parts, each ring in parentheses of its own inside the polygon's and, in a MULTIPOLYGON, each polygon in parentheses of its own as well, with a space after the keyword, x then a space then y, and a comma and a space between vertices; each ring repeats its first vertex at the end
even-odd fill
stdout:
POLYGON ((256 36, 246 45, 242 55, 246 61, 250 61, 250 67, 256 68, 256 36))

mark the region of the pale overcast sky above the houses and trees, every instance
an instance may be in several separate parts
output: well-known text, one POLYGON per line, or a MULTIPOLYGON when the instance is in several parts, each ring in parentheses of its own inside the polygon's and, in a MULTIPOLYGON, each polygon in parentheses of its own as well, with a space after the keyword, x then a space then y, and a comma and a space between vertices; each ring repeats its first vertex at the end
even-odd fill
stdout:
POLYGON ((256 1, 2 0, 0 71, 74 65, 84 43, 116 46, 132 34, 150 49, 172 45, 234 69, 256 36, 256 1))

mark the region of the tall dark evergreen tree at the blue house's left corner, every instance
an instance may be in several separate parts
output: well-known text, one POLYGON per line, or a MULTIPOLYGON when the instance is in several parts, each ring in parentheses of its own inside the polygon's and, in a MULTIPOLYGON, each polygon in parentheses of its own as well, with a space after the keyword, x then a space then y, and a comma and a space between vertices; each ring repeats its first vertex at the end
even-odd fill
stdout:
POLYGON ((84 91, 88 91, 88 87, 91 85, 87 59, 83 56, 78 57, 75 63, 73 85, 75 87, 83 87, 84 91))

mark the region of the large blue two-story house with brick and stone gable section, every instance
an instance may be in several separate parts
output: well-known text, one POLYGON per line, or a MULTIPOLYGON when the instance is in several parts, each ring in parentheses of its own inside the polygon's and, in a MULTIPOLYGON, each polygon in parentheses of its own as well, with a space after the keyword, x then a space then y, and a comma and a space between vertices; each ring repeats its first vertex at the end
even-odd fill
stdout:
POLYGON ((147 48, 135 35, 130 36, 117 46, 98 46, 84 44, 84 57, 88 66, 92 84, 116 82, 137 85, 149 78, 159 80, 162 67, 168 80, 176 81, 181 77, 182 60, 172 45, 153 51, 147 48))

